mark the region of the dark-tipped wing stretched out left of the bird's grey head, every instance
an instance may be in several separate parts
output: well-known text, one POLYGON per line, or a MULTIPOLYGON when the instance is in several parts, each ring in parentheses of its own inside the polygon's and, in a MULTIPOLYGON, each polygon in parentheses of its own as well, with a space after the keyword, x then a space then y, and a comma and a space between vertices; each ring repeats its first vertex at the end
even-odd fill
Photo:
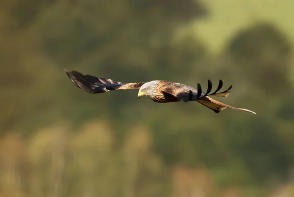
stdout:
POLYGON ((144 84, 144 82, 123 84, 122 82, 116 82, 111 79, 98 78, 92 75, 83 75, 82 73, 75 70, 68 71, 65 69, 64 71, 72 80, 73 84, 75 84, 78 88, 81 88, 92 94, 103 93, 117 89, 139 89, 144 84))

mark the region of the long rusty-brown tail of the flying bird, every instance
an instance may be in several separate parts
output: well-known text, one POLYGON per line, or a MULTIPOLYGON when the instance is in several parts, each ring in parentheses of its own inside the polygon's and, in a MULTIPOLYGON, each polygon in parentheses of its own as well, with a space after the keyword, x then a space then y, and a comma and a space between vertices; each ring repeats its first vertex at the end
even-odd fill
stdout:
POLYGON ((248 109, 242 109, 242 108, 236 108, 236 107, 233 107, 233 106, 230 106, 230 105, 226 105, 224 103, 221 103, 217 100, 214 100, 208 96, 204 97, 204 98, 201 98, 201 99, 198 99, 196 100, 197 102, 199 102, 200 104, 204 105, 205 107, 209 108, 209 109, 212 109, 214 112, 216 113, 221 113, 221 111, 223 109, 226 109, 226 108, 229 108, 229 109, 236 109, 236 110, 239 110, 239 111, 245 111, 245 112, 248 112, 248 113, 251 113, 251 114, 256 114, 254 111, 251 111, 251 110, 248 110, 248 109))

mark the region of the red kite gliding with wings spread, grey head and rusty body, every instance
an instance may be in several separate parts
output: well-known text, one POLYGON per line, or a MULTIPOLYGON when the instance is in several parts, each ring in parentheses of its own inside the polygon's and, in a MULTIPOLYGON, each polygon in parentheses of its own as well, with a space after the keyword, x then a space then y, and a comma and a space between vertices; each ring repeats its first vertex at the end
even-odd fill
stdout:
POLYGON ((202 92, 202 88, 199 83, 197 84, 197 89, 186 86, 184 84, 164 80, 155 80, 146 83, 141 82, 124 84, 121 82, 113 81, 111 79, 95 77, 92 75, 83 75, 82 73, 74 70, 68 71, 65 69, 64 71, 66 72, 67 76, 72 80, 73 84, 75 84, 78 88, 81 88, 86 92, 93 94, 118 89, 139 89, 139 98, 145 95, 157 103, 197 101, 205 107, 212 109, 216 113, 220 113, 221 110, 229 108, 245 111, 251 114, 256 114, 255 112, 248 109, 236 108, 230 105, 226 105, 209 97, 227 97, 229 95, 229 90, 232 88, 232 86, 230 86, 225 91, 218 92, 222 88, 221 80, 219 82, 218 88, 211 93, 212 83, 210 80, 208 80, 207 91, 202 92))

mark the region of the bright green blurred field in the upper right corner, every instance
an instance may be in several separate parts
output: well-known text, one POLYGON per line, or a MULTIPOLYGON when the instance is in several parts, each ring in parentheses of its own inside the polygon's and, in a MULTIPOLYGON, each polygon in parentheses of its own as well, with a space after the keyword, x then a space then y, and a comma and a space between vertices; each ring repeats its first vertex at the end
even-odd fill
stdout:
POLYGON ((211 52, 220 52, 240 27, 270 21, 288 34, 294 44, 293 0, 204 0, 210 15, 195 22, 197 34, 211 52), (221 39, 220 39, 221 38, 221 39))

